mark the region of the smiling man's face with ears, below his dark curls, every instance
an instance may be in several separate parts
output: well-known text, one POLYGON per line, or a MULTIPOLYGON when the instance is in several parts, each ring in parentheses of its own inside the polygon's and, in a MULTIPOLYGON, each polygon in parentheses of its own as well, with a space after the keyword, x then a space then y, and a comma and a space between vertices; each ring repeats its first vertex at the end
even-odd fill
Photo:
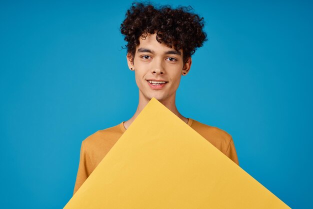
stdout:
POLYGON ((189 71, 191 59, 186 64, 182 60, 182 49, 176 51, 156 40, 156 33, 148 34, 145 39, 139 38, 139 45, 133 62, 127 58, 129 68, 134 68, 139 98, 159 101, 175 98, 181 74, 189 71))

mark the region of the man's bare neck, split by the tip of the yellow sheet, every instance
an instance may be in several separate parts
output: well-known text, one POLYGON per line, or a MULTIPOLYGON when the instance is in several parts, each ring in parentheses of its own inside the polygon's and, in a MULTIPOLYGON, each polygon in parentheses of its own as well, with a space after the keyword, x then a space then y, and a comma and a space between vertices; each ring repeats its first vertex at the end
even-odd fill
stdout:
MULTIPOLYGON (((178 109, 176 107, 175 104, 175 93, 170 96, 167 99, 164 100, 158 100, 159 102, 161 102, 164 106, 166 106, 167 109, 169 109, 170 111, 172 111, 175 115, 177 115, 181 120, 183 120, 185 123, 188 122, 188 118, 182 116, 179 112, 178 109)), ((139 115, 139 113, 141 112, 141 110, 145 107, 145 105, 150 101, 149 98, 146 98, 143 96, 143 94, 140 92, 139 90, 139 102, 138 102, 138 106, 137 109, 135 111, 135 113, 132 115, 132 117, 130 119, 128 119, 127 121, 124 122, 124 127, 127 129, 128 126, 133 122, 133 120, 139 115)))

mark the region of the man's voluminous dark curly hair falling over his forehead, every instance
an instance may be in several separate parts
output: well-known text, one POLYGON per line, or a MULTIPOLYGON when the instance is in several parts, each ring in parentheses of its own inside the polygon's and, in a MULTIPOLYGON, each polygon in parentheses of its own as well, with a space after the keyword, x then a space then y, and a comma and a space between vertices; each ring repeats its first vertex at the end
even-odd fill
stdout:
POLYGON ((156 8, 152 4, 133 2, 120 24, 120 32, 127 41, 125 47, 133 58, 139 36, 156 32, 156 40, 176 50, 182 49, 183 62, 191 56, 197 47, 206 41, 203 31, 203 17, 191 12, 191 6, 179 6, 176 9, 169 5, 156 8))

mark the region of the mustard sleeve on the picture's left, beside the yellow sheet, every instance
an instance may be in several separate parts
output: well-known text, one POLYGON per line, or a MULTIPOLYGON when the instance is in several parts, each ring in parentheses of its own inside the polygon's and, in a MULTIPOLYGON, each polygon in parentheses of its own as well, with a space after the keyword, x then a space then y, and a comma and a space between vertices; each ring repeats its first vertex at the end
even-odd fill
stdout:
POLYGON ((90 175, 90 167, 91 167, 90 165, 91 165, 90 157, 88 156, 84 148, 83 141, 82 141, 81 147, 80 147, 78 171, 76 175, 76 182, 75 182, 73 194, 78 190, 78 188, 90 175))

